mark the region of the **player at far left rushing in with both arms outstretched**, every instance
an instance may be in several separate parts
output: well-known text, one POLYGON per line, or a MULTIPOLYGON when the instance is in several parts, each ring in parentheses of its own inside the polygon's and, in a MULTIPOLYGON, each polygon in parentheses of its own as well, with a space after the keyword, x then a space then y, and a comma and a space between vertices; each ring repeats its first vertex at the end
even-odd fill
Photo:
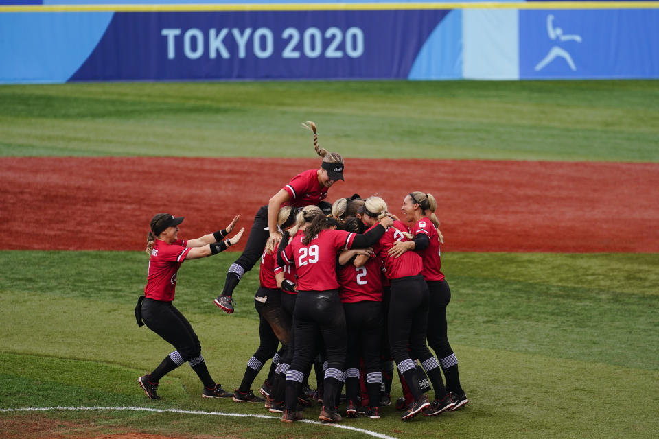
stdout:
POLYGON ((201 355, 199 339, 187 319, 172 305, 172 300, 176 289, 176 274, 181 263, 186 259, 199 259, 217 254, 236 244, 240 241, 244 228, 230 239, 224 237, 233 231, 237 221, 238 216, 234 217, 224 230, 183 241, 178 239, 178 225, 183 222, 183 217, 159 213, 151 219, 151 231, 146 246, 150 256, 149 274, 144 296, 139 298, 135 308, 135 316, 140 326, 146 324, 154 333, 173 344, 176 350, 167 355, 152 372, 137 379, 150 399, 160 399, 157 394, 158 381, 185 361, 188 361, 204 384, 201 396, 231 397, 231 393, 226 392, 211 378, 204 357, 201 355))

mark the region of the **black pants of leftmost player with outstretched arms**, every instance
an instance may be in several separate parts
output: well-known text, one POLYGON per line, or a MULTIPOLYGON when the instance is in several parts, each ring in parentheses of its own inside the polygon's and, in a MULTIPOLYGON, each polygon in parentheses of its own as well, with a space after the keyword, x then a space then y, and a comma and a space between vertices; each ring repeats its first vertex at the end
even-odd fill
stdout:
POLYGON ((145 298, 142 302, 142 320, 181 354, 183 361, 201 355, 201 344, 187 319, 172 302, 145 298))

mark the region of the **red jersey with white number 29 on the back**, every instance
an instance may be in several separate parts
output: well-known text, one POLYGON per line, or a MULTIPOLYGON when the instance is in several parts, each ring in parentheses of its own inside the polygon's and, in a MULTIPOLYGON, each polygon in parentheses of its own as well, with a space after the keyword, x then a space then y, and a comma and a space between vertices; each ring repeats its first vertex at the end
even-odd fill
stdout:
POLYGON ((281 256, 297 270, 298 291, 338 289, 336 254, 347 250, 355 239, 345 230, 321 230, 307 245, 302 244, 304 233, 290 239, 281 256))

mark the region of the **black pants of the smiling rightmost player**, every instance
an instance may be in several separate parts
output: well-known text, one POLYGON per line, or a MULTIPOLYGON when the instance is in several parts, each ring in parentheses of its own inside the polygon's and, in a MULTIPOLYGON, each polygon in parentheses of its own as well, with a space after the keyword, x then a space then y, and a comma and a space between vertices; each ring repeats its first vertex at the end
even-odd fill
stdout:
POLYGON ((451 301, 451 289, 446 281, 428 281, 428 289, 428 344, 438 358, 446 358, 453 353, 448 342, 446 324, 446 307, 451 301))

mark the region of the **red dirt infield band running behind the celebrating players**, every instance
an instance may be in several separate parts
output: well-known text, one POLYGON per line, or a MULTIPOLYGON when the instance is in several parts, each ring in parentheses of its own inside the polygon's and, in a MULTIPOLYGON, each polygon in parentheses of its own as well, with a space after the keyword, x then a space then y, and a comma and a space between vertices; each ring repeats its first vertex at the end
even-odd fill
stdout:
MULTIPOLYGON (((400 213, 435 195, 445 251, 659 252, 659 164, 348 159, 329 201, 378 193, 400 213)), ((0 250, 141 250, 149 220, 181 237, 251 227, 258 207, 314 159, 0 158, 0 250)), ((242 250, 243 241, 232 250, 242 250)))

